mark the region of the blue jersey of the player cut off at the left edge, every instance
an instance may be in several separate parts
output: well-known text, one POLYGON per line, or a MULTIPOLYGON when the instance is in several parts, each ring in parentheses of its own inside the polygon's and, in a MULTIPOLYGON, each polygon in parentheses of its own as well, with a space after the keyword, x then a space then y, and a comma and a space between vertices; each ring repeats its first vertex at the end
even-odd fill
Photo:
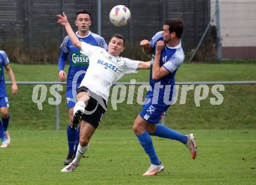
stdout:
POLYGON ((3 66, 9 65, 8 56, 0 50, 0 98, 7 97, 5 90, 5 76, 3 75, 3 66))

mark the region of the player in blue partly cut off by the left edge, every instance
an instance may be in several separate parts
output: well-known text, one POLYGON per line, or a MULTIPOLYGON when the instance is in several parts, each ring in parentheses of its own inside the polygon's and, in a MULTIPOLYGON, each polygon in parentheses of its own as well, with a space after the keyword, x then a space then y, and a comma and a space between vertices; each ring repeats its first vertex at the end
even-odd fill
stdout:
POLYGON ((3 67, 6 69, 10 80, 12 80, 12 94, 18 92, 18 87, 15 80, 15 75, 10 68, 8 56, 4 51, 0 51, 0 111, 2 121, 0 120, 0 138, 2 140, 1 148, 6 148, 10 144, 10 135, 7 131, 9 124, 9 102, 5 90, 5 77, 3 76, 3 67))

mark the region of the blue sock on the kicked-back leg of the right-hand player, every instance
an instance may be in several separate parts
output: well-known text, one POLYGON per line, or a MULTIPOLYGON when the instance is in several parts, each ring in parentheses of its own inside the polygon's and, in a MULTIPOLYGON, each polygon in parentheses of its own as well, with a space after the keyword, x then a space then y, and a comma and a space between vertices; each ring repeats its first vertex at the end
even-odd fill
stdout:
POLYGON ((169 138, 171 140, 177 140, 182 142, 183 144, 187 143, 187 136, 177 133, 176 131, 173 131, 161 124, 157 124, 157 129, 155 129, 153 136, 169 138))

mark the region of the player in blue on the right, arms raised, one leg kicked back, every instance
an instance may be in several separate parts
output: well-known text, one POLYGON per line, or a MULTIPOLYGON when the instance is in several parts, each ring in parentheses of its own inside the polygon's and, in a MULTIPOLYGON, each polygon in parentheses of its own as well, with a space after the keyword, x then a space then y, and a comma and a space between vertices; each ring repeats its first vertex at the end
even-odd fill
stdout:
POLYGON ((194 134, 183 135, 158 124, 163 113, 167 111, 171 104, 175 74, 184 61, 180 39, 182 33, 183 22, 181 19, 166 19, 163 24, 163 31, 155 34, 150 42, 143 40, 140 43, 145 54, 153 52, 150 69, 150 90, 145 98, 147 101, 145 101, 143 109, 133 124, 133 131, 151 160, 150 168, 143 176, 155 175, 164 168, 162 162, 158 159, 150 136, 180 141, 189 148, 193 159, 197 154, 194 134))

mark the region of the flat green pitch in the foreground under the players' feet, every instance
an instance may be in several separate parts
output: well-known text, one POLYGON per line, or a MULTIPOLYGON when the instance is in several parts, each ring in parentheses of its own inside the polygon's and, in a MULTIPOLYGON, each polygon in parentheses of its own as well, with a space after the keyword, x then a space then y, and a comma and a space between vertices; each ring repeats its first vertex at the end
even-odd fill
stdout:
POLYGON ((1 184, 255 184, 255 130, 193 132, 197 159, 183 144, 153 137, 165 170, 142 177, 150 162, 131 130, 98 130, 72 173, 60 172, 65 131, 10 131, 12 143, 0 150, 1 184))

